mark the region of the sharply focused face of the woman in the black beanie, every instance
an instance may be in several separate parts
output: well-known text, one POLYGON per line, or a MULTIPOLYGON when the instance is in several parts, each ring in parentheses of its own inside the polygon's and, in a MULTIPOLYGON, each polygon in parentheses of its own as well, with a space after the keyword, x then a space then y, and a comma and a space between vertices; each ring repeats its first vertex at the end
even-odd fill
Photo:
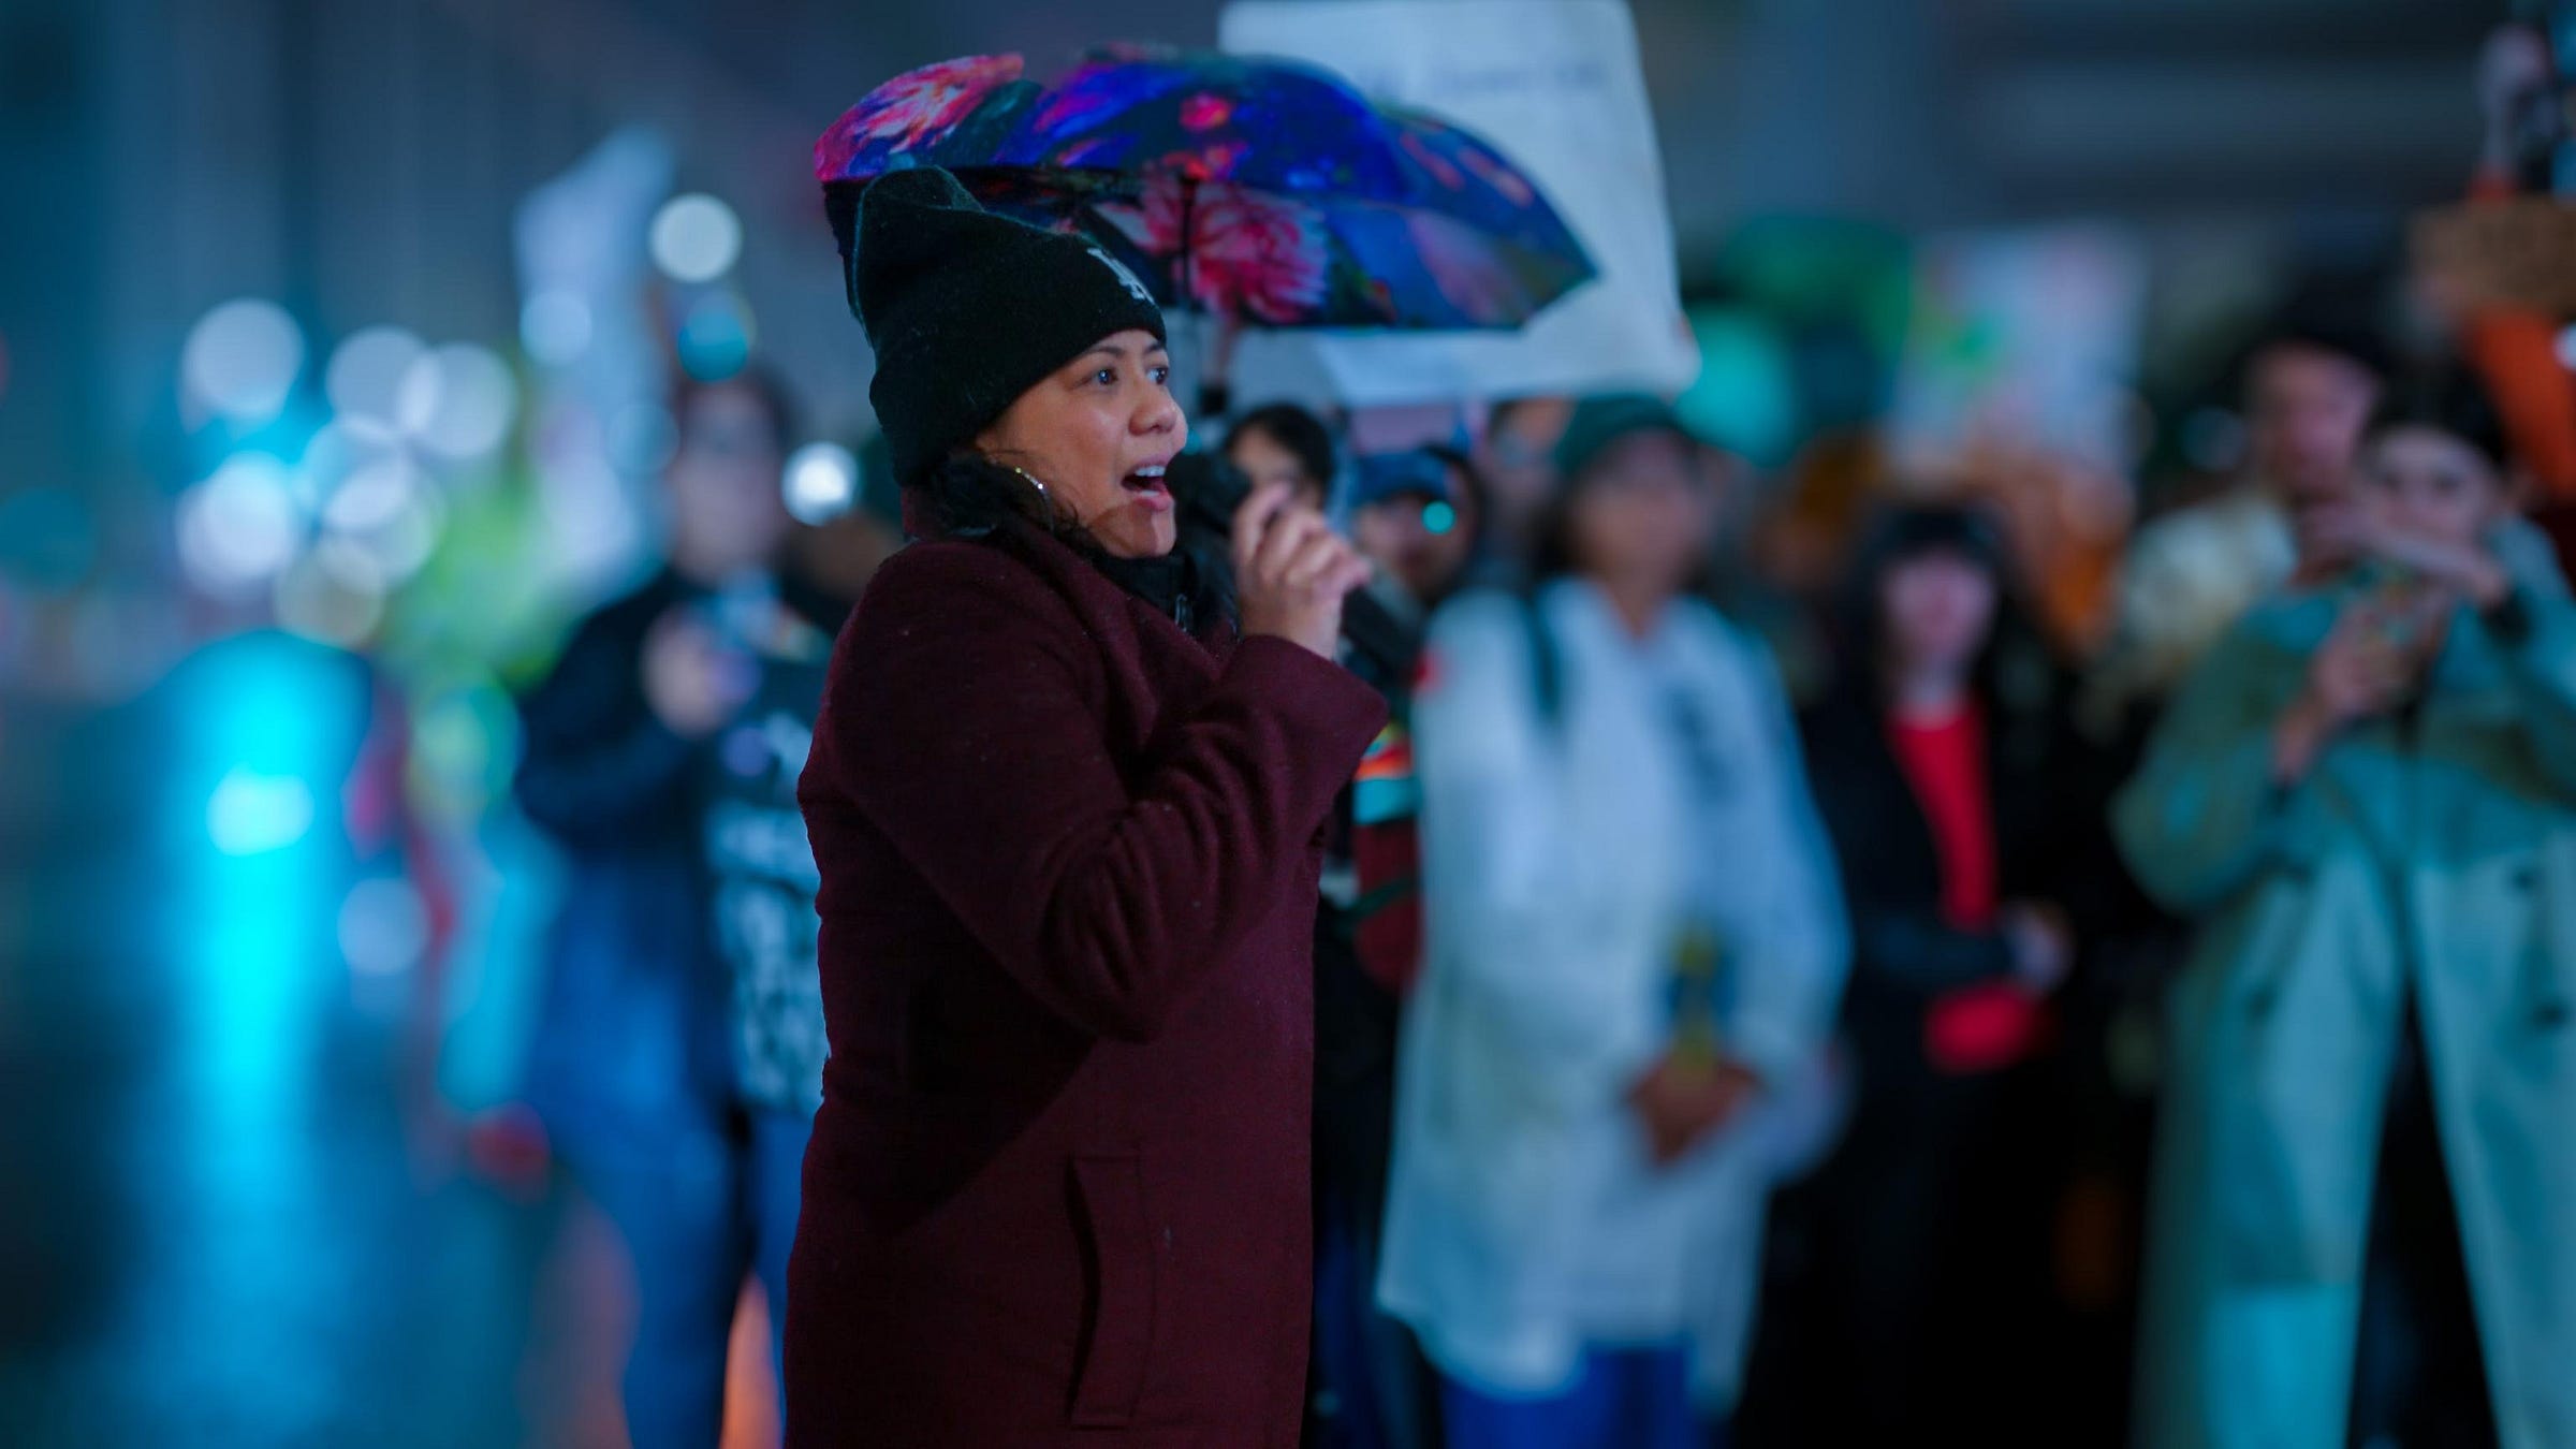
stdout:
POLYGON ((1023 392, 974 446, 1043 482, 1108 554, 1151 559, 1177 536, 1164 467, 1188 441, 1172 356, 1128 327, 1023 392))

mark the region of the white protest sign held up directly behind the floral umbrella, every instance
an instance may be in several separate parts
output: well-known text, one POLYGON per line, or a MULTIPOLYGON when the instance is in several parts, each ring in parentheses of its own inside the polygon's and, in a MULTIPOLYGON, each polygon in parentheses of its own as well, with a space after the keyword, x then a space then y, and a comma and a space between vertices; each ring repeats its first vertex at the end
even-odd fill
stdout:
POLYGON ((1674 394, 1698 376, 1664 160, 1620 0, 1242 0, 1226 5, 1218 44, 1321 64, 1370 101, 1476 131, 1538 183, 1600 268, 1517 333, 1247 333, 1234 397, 1327 392, 1365 407, 1674 394))

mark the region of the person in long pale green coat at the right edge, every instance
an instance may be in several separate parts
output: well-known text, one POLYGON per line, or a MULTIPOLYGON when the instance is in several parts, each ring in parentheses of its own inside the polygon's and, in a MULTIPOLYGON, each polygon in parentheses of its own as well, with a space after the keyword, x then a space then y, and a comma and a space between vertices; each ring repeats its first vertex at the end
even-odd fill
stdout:
POLYGON ((2141 884, 2200 923, 2156 1147, 2154 1449, 2339 1449, 2347 1421, 2576 1446, 2576 606, 2460 418, 2375 428, 2365 562, 2257 606, 2115 802, 2141 884), (2437 1250, 2383 1274, 2427 1194, 2437 1250), (2450 1253, 2458 1330, 2421 1287, 2450 1253), (2409 1354, 2372 1351, 2365 1297, 2414 1315, 2409 1354))

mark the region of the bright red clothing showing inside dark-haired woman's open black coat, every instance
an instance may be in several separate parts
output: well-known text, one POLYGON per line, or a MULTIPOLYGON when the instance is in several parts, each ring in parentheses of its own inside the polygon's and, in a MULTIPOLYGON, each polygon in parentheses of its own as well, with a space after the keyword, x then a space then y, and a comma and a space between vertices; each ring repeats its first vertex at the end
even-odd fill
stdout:
MULTIPOLYGON (((1896 768, 1914 786, 1940 856, 1942 920, 1994 931, 2002 866, 1994 792, 1986 781, 1986 717, 1968 704, 1935 724, 1888 719, 1896 768)), ((1945 1073, 1991 1073, 2030 1055, 2040 1003, 2020 982, 1984 982, 1937 995, 1924 1013, 1924 1057, 1945 1073)))

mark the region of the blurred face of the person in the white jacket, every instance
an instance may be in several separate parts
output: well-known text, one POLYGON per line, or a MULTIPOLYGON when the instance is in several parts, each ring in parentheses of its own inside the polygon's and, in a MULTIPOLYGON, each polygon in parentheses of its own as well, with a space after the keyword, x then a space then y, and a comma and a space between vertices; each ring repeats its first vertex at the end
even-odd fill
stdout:
POLYGON ((1672 433, 1631 433, 1584 472, 1566 523, 1574 562, 1631 593, 1680 593, 1708 559, 1718 498, 1700 449, 1672 433))

